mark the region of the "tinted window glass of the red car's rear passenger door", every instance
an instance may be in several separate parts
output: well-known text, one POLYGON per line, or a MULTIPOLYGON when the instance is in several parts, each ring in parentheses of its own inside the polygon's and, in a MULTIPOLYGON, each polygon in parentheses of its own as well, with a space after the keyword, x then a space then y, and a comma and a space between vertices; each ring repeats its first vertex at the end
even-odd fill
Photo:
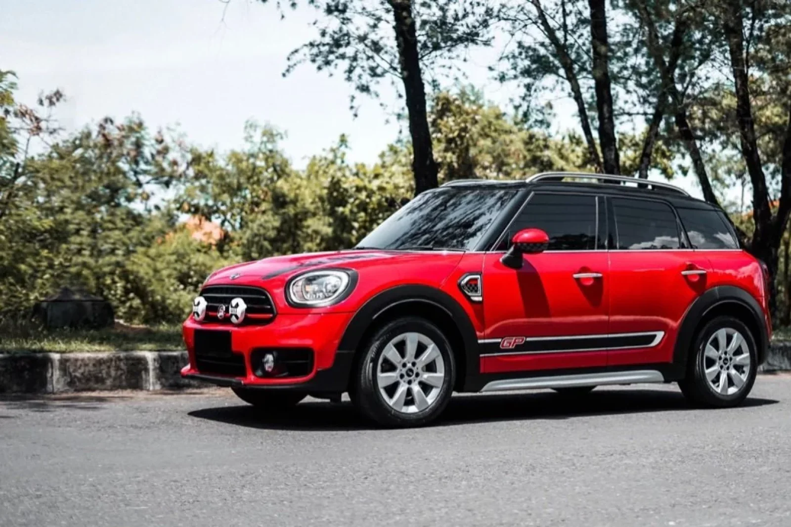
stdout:
POLYGON ((676 214, 664 203, 613 198, 615 237, 619 249, 679 248, 676 214))

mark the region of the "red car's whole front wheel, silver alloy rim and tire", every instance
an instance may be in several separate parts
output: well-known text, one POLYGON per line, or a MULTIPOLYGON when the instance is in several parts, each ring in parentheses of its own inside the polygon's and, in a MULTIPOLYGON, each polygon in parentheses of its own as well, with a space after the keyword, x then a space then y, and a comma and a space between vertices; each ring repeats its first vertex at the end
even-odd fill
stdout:
POLYGON ((369 419, 386 427, 418 427, 448 405, 456 363, 448 339, 430 321, 393 320, 361 352, 350 396, 369 419))

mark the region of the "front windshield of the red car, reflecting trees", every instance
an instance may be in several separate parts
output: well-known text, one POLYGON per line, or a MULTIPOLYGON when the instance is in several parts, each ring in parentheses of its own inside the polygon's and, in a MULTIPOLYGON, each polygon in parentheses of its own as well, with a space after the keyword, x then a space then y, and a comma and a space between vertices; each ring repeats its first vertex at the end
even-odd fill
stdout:
POLYGON ((374 229, 358 248, 470 251, 516 194, 508 188, 423 192, 374 229))

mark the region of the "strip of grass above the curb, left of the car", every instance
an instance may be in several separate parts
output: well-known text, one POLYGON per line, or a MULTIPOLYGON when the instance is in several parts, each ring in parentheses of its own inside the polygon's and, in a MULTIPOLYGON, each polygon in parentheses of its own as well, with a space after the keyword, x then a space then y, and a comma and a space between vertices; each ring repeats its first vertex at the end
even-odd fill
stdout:
POLYGON ((46 329, 37 324, 0 324, 0 353, 78 351, 181 351, 180 326, 127 326, 104 329, 46 329))

